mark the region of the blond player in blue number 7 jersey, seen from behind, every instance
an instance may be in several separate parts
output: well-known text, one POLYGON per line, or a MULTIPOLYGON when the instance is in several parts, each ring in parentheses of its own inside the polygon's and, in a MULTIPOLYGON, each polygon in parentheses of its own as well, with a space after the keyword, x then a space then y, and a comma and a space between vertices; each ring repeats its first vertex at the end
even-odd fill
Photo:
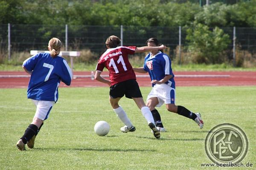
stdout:
POLYGON ((36 105, 36 111, 32 123, 16 144, 19 150, 26 150, 25 144, 34 147, 35 137, 58 100, 60 82, 71 83, 72 71, 67 61, 59 56, 61 41, 58 38, 49 40, 48 50, 49 53, 35 54, 23 62, 24 70, 31 75, 27 96, 36 105))

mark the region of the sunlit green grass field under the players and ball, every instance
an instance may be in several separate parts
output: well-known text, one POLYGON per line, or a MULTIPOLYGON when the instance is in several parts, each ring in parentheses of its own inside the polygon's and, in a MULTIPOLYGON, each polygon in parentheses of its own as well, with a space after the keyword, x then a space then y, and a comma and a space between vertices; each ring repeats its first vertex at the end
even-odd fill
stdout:
MULTIPOLYGON (((151 88, 141 88, 144 98, 151 88)), ((249 148, 242 163, 256 168, 256 86, 178 87, 176 104, 200 111, 205 126, 158 109, 168 130, 157 140, 131 99, 121 99, 137 130, 122 133, 123 126, 108 102, 108 88, 60 88, 53 107, 35 141, 35 148, 19 151, 15 144, 32 121, 35 106, 26 89, 0 89, 1 170, 196 170, 212 163, 204 142, 212 127, 221 123, 239 126, 249 148), (94 124, 105 120, 107 136, 97 136, 94 124)), ((202 169, 232 169, 204 167, 202 169)))

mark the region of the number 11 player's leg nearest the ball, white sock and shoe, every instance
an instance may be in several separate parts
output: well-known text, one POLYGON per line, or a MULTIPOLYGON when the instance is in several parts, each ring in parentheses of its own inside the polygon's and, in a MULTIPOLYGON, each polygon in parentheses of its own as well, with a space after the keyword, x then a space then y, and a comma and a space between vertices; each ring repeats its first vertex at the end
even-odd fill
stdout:
POLYGON ((110 104, 111 104, 113 110, 115 111, 115 113, 119 117, 119 119, 125 124, 125 126, 121 127, 120 130, 124 133, 134 132, 136 130, 136 128, 132 125, 130 119, 128 118, 127 114, 122 109, 122 107, 118 105, 118 102, 120 99, 121 99, 120 97, 115 98, 115 99, 109 97, 109 101, 110 101, 110 104))

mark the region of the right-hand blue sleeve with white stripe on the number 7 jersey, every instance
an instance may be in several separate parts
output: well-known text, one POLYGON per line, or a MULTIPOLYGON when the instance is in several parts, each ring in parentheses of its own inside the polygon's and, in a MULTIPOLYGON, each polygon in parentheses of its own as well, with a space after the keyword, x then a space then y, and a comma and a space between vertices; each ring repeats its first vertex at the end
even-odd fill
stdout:
POLYGON ((62 61, 61 72, 59 73, 59 76, 61 77, 61 81, 64 82, 66 85, 71 84, 73 75, 70 66, 67 64, 67 61, 65 59, 63 59, 62 61))

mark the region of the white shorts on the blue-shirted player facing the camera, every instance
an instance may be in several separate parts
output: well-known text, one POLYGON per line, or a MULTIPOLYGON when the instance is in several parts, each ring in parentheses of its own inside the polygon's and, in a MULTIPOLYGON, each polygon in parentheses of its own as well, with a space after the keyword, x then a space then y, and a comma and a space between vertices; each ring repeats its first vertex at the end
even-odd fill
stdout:
POLYGON ((148 94, 147 100, 151 97, 157 97, 158 104, 156 107, 160 107, 165 104, 175 104, 175 88, 171 88, 169 85, 163 84, 156 84, 148 94))

